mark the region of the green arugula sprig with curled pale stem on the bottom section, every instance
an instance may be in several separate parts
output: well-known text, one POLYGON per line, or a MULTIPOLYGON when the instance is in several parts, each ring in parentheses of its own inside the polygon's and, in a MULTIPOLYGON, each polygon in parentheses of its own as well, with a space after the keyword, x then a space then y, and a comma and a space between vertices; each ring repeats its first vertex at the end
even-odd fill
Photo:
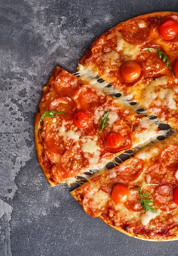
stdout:
MULTIPOLYGON (((147 184, 145 184, 144 186, 148 186, 148 185, 159 186, 159 184, 153 184, 153 183, 147 183, 147 184)), ((154 204, 153 201, 150 201, 150 200, 149 200, 149 195, 150 195, 151 193, 144 193, 144 194, 141 193, 141 190, 143 189, 144 186, 139 187, 139 188, 137 189, 137 191, 138 191, 138 193, 139 193, 139 195, 140 195, 139 203, 141 203, 141 206, 143 207, 143 210, 144 210, 144 211, 147 211, 147 212, 152 211, 152 212, 154 212, 154 213, 158 213, 158 212, 155 210, 154 206, 153 206, 153 205, 150 205, 150 203, 154 204)))

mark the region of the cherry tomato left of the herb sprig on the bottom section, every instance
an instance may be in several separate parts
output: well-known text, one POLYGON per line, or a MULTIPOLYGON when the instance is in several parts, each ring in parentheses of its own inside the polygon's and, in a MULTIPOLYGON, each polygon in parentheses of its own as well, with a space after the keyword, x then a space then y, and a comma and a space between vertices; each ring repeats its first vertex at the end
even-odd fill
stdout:
POLYGON ((125 203, 129 198, 129 189, 123 184, 116 184, 111 193, 111 199, 115 204, 125 203))

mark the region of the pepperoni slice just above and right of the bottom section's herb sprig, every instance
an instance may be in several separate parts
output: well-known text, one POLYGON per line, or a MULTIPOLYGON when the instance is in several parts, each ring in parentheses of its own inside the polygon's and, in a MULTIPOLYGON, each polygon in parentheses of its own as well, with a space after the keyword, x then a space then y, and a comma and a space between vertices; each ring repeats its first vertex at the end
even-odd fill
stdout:
POLYGON ((174 172, 162 168, 161 164, 151 166, 147 170, 147 174, 151 176, 150 183, 156 183, 160 185, 175 183, 174 172))

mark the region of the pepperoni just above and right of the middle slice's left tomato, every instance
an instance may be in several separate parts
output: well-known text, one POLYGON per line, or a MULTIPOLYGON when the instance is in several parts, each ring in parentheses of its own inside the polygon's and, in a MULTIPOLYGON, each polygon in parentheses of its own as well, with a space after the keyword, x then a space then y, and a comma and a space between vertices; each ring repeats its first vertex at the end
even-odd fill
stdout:
POLYGON ((102 105, 106 101, 106 96, 104 94, 98 95, 96 90, 87 87, 80 91, 77 101, 81 109, 90 110, 102 105))

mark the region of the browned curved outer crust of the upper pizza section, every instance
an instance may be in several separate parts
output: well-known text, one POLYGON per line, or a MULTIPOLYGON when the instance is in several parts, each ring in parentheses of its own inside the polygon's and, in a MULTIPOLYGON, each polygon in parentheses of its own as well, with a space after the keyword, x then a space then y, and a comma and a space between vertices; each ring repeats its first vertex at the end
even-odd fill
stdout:
MULTIPOLYGON (((89 47, 87 48, 86 52, 84 53, 84 55, 82 56, 82 58, 80 58, 80 60, 78 61, 79 64, 82 64, 82 65, 86 65, 85 64, 85 60, 88 58, 89 56, 89 51, 90 49, 92 49, 92 47, 95 45, 95 42, 98 41, 99 39, 103 38, 103 36, 105 36, 105 34, 107 32, 110 32, 110 31, 115 31, 117 29, 121 29, 121 27, 126 24, 127 22, 129 22, 130 20, 134 20, 134 19, 137 19, 137 18, 146 18, 146 17, 155 17, 155 16, 160 16, 160 17, 164 17, 164 16, 168 16, 168 15, 176 15, 178 16, 178 12, 151 12, 151 13, 146 13, 146 14, 142 14, 142 15, 138 15, 138 16, 135 16, 135 17, 132 17, 130 18, 129 20, 126 20, 126 21, 121 21, 119 22, 117 25, 113 26, 112 28, 106 30, 103 34, 101 34, 98 38, 95 39, 95 41, 89 45, 89 47)), ((77 70, 79 70, 79 68, 77 67, 77 70)))

